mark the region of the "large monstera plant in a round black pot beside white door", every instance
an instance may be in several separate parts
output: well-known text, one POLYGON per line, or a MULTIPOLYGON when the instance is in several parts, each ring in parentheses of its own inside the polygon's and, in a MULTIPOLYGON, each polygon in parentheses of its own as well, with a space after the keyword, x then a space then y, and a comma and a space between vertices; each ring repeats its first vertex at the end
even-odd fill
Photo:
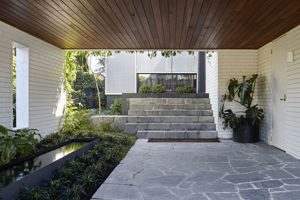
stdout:
POLYGON ((232 140, 234 142, 252 143, 259 141, 259 123, 264 118, 263 110, 257 107, 258 104, 251 105, 257 76, 257 74, 253 74, 249 80, 245 80, 246 76, 243 76, 242 83, 238 83, 235 78, 230 79, 229 94, 222 95, 219 117, 224 119, 224 130, 228 126, 233 128, 232 140), (234 99, 235 94, 238 95, 240 101, 234 99), (246 110, 240 112, 232 112, 231 109, 225 110, 224 102, 226 100, 238 102, 246 110), (245 113, 245 115, 237 117, 235 113, 245 113))

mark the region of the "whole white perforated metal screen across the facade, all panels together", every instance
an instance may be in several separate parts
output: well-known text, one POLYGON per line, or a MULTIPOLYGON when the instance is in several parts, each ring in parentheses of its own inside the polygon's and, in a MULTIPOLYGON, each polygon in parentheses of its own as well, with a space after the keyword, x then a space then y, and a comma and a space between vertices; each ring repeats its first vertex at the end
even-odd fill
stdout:
MULTIPOLYGON (((145 53, 113 53, 106 58, 105 94, 137 92, 137 73, 171 73, 171 58, 165 58, 161 52, 150 59, 145 53)), ((173 73, 196 73, 196 52, 177 53, 173 56, 173 73)))

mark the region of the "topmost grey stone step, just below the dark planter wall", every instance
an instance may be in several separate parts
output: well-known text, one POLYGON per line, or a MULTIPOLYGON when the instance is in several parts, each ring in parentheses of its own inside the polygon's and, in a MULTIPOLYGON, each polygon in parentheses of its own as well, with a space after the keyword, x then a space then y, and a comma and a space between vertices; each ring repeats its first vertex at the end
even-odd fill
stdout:
POLYGON ((201 104, 210 103, 209 98, 131 98, 132 104, 201 104))

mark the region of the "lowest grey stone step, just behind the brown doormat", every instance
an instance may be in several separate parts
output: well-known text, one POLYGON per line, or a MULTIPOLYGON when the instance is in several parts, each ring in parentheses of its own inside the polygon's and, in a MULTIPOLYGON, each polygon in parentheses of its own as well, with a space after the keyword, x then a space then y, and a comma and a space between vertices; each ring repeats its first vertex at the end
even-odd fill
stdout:
POLYGON ((139 130, 137 138, 217 138, 217 131, 169 131, 169 130, 139 130))

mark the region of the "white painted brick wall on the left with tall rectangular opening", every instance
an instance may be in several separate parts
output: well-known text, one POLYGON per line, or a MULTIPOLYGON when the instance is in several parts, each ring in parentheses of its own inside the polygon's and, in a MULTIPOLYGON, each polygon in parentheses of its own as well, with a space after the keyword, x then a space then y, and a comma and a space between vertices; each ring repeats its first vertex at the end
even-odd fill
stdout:
POLYGON ((0 22, 0 124, 12 128, 12 40, 29 47, 29 128, 61 129, 65 51, 0 22))

